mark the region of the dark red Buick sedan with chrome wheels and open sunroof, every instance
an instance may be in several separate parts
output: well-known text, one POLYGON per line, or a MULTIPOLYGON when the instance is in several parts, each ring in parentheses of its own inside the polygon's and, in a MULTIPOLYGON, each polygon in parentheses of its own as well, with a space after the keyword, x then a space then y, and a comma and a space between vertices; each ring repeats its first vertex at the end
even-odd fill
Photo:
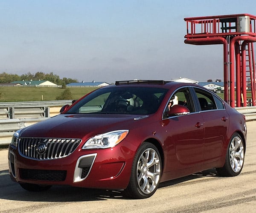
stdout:
POLYGON ((119 81, 15 132, 9 172, 30 191, 58 184, 148 198, 160 182, 210 168, 237 176, 246 133, 244 116, 204 87, 119 81))

